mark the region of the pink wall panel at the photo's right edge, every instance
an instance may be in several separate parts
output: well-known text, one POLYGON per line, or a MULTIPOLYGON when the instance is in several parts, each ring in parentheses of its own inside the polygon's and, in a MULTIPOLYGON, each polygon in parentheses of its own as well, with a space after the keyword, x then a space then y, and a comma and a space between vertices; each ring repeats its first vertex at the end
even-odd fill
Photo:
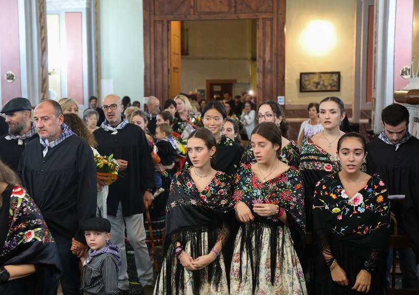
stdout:
MULTIPOLYGON (((409 84, 410 79, 403 79, 400 70, 410 66, 412 56, 413 0, 398 0, 395 9, 394 33, 394 91, 409 84)), ((415 65, 416 66, 416 65, 415 65)))

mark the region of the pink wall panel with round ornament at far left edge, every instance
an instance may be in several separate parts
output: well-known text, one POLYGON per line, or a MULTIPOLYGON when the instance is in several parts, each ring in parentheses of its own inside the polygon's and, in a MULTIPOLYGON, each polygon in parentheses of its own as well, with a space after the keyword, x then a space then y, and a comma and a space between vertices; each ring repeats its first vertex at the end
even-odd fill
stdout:
POLYGON ((3 105, 21 96, 17 0, 0 1, 0 80, 3 105), (5 80, 9 70, 16 76, 12 83, 5 80))

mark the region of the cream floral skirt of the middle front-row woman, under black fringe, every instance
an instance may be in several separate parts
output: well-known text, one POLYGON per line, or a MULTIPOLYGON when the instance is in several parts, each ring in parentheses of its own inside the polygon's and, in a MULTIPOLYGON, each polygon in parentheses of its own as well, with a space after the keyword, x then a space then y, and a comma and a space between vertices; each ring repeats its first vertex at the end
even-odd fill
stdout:
MULTIPOLYGON (((230 269, 230 294, 306 295, 307 288, 304 273, 302 272, 298 256, 294 250, 290 230, 287 226, 284 226, 285 233, 282 232, 283 230, 280 227, 273 229, 264 227, 262 229, 262 235, 252 234, 252 248, 254 249, 255 239, 261 239, 262 244, 262 249, 257 250, 261 251, 259 283, 255 286, 255 291, 252 291, 252 269, 255 268, 255 265, 251 265, 251 260, 249 259, 250 257, 249 253, 246 251, 246 247, 243 248, 242 252, 240 251, 242 230, 243 226, 240 228, 234 243, 234 256, 230 269), (270 266, 271 230, 279 231, 277 234, 278 240, 276 242, 276 251, 274 251, 276 253, 277 262, 273 285, 271 283, 270 266), (280 253, 281 249, 286 249, 286 253, 280 253), (240 279, 240 267, 242 279, 240 279)), ((253 251, 251 255, 253 255, 252 260, 255 261, 255 251, 253 251)))

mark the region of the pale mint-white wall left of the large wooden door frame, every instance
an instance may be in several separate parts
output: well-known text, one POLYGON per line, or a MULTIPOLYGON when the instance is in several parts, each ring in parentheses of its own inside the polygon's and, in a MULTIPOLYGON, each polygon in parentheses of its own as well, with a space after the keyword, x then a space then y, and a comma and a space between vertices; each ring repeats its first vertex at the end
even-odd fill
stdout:
MULTIPOLYGON (((113 87, 114 94, 142 101, 143 0, 99 0, 98 6, 99 79, 107 79, 107 89, 113 87)), ((100 97, 110 94, 103 92, 99 89, 100 97)))

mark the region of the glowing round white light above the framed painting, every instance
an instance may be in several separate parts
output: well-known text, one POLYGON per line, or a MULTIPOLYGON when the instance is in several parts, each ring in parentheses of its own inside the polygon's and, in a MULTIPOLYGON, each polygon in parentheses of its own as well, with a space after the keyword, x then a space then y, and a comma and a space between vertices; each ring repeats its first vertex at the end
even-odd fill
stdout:
POLYGON ((336 45, 335 28, 328 21, 313 20, 302 31, 300 43, 312 55, 325 55, 336 45))

